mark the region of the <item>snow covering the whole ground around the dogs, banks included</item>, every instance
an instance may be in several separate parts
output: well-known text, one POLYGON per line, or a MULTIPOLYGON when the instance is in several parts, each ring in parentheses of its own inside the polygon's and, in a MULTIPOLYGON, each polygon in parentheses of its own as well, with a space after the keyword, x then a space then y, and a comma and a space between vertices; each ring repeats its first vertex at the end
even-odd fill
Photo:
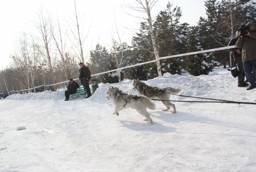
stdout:
MULTIPOLYGON (((198 77, 167 73, 146 84, 256 102, 256 89, 237 87, 237 78, 223 68, 198 77)), ((150 125, 133 109, 112 115, 113 103, 105 98, 110 85, 132 89, 129 80, 100 84, 89 99, 63 101, 65 90, 58 90, 0 100, 0 171, 256 171, 256 105, 175 102, 172 114, 154 101, 150 125)))

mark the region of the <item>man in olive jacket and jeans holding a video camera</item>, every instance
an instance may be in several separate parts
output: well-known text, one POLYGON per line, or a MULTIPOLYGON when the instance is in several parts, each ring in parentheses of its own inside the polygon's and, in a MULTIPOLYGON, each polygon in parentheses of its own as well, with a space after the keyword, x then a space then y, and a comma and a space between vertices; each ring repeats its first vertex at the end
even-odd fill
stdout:
POLYGON ((252 67, 256 68, 256 30, 253 23, 249 22, 246 26, 250 26, 247 34, 241 35, 239 32, 239 38, 236 41, 236 47, 242 49, 242 62, 246 78, 250 83, 250 87, 246 90, 256 88, 255 78, 252 74, 252 67))

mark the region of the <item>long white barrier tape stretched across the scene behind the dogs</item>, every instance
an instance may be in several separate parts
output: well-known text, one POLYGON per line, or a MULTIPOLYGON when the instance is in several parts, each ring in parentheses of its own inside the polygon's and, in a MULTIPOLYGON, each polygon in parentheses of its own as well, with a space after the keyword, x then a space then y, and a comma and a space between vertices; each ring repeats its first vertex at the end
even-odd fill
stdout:
MULTIPOLYGON (((130 67, 145 65, 145 64, 147 64, 147 63, 156 62, 156 61, 159 61, 159 60, 162 60, 162 59, 168 59, 168 58, 180 57, 180 56, 188 56, 188 55, 192 55, 192 54, 201 54, 201 53, 204 53, 204 52, 219 51, 219 50, 225 50, 225 49, 231 49, 231 48, 236 48, 236 46, 235 46, 235 45, 232 45, 232 46, 224 46, 224 47, 222 47, 222 48, 215 48, 215 49, 209 49, 209 50, 202 50, 202 51, 195 51, 195 52, 188 52, 188 53, 184 53, 184 54, 178 54, 178 55, 160 57, 160 58, 158 58, 157 60, 152 60, 152 61, 148 61, 148 62, 138 63, 138 64, 136 64, 136 65, 126 66, 126 67, 121 67, 121 68, 114 69, 114 70, 111 70, 111 71, 96 73, 96 74, 93 74, 93 75, 91 75, 91 76, 97 76, 97 75, 100 75, 100 74, 109 73, 109 72, 114 72, 114 71, 119 71, 119 70, 126 69, 126 68, 130 68, 130 67)), ((73 80, 78 80, 78 79, 79 79, 79 78, 76 78, 76 79, 73 79, 73 80)), ((56 84, 46 85, 46 87, 47 87, 47 86, 52 86, 52 85, 63 84, 63 83, 66 83, 66 82, 69 82, 69 81, 63 81, 63 82, 56 83, 56 84)), ((44 85, 41 85, 41 86, 38 86, 38 87, 43 87, 43 86, 44 86, 44 85)), ((38 87, 35 87, 35 88, 38 88, 38 87)), ((34 88, 25 89, 25 90, 31 90, 31 89, 34 89, 34 88)), ((20 90, 20 91, 25 91, 25 90, 20 90)), ((12 90, 12 91, 13 91, 13 90, 12 90)), ((11 91, 9 91, 9 92, 11 92, 11 91)), ((19 92, 19 91, 14 91, 14 92, 19 92)))

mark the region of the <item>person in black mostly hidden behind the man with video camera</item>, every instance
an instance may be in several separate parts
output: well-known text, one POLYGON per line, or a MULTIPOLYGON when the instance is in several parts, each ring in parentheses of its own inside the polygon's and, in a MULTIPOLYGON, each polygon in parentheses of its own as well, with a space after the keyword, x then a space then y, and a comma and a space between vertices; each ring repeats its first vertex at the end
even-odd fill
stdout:
MULTIPOLYGON (((236 35, 238 36, 238 31, 236 32, 236 35)), ((238 37, 235 37, 231 39, 228 43, 228 46, 235 45, 236 41, 238 40, 238 37)), ((233 52, 236 66, 238 67, 239 75, 238 75, 238 87, 247 87, 249 84, 245 82, 245 72, 244 67, 242 63, 242 49, 239 48, 232 48, 229 49, 229 51, 233 52)))

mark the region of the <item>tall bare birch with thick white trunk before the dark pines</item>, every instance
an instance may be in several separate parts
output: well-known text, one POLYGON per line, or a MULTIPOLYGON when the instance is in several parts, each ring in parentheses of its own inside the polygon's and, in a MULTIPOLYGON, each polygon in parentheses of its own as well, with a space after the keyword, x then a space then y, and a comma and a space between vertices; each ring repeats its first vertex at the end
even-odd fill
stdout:
POLYGON ((142 12, 142 13, 146 13, 147 18, 144 17, 139 17, 139 18, 143 18, 144 20, 147 21, 148 26, 149 26, 149 32, 150 32, 150 36, 151 36, 151 40, 152 40, 152 45, 153 45, 153 49, 154 49, 154 55, 155 55, 155 59, 156 61, 156 67, 158 70, 158 76, 162 77, 162 72, 161 72, 161 65, 160 65, 160 60, 159 59, 159 54, 158 54, 158 48, 157 48, 157 41, 156 41, 156 36, 154 34, 154 29, 153 29, 153 20, 151 17, 151 10, 154 7, 154 5, 158 2, 158 0, 145 0, 145 3, 142 2, 142 0, 135 0, 137 2, 137 4, 140 5, 140 7, 135 7, 135 6, 129 6, 129 8, 137 11, 137 12, 142 12))

